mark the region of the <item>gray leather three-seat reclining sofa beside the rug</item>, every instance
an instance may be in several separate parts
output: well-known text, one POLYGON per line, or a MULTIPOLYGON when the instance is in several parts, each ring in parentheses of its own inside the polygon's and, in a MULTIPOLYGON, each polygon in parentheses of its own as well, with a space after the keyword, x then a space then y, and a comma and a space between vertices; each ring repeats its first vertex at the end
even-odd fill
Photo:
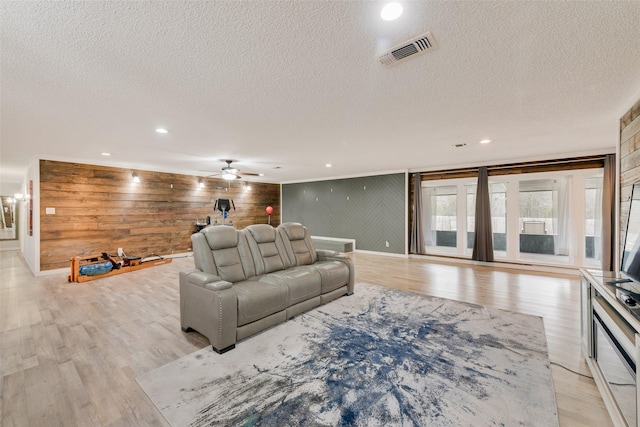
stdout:
POLYGON ((218 353, 237 341, 343 295, 353 294, 354 265, 316 250, 298 223, 236 230, 212 226, 191 236, 195 269, 180 272, 180 323, 218 353))

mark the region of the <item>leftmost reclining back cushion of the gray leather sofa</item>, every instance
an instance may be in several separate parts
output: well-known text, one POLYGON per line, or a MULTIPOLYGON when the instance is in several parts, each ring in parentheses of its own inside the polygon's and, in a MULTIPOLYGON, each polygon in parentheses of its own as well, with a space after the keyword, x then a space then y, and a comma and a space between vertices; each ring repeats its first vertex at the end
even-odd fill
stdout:
POLYGON ((196 268, 228 282, 255 276, 246 237, 233 227, 204 228, 191 236, 196 268))

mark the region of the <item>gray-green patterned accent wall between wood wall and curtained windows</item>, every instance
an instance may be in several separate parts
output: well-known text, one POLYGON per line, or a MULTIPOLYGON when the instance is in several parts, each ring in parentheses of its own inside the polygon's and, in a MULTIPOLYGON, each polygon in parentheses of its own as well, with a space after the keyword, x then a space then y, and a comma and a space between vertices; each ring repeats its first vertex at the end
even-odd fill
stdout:
POLYGON ((355 239, 356 249, 404 254, 405 181, 399 173, 283 184, 282 222, 300 222, 313 236, 355 239))

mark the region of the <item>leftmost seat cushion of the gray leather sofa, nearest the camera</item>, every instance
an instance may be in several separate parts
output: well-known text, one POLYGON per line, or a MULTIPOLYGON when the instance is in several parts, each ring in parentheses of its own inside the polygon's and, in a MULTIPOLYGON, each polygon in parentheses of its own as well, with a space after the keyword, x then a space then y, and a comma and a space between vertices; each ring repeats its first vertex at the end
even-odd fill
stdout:
POLYGON ((238 297, 238 326, 287 308, 289 290, 281 283, 245 280, 233 284, 238 297))

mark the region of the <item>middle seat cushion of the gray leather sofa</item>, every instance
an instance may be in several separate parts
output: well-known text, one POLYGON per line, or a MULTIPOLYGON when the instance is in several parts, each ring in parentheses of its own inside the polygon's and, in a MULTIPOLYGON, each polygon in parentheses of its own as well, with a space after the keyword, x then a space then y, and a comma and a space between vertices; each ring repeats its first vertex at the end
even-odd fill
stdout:
POLYGON ((291 267, 286 270, 269 273, 260 278, 266 283, 282 283, 289 290, 287 307, 320 295, 322 277, 311 267, 291 267))

